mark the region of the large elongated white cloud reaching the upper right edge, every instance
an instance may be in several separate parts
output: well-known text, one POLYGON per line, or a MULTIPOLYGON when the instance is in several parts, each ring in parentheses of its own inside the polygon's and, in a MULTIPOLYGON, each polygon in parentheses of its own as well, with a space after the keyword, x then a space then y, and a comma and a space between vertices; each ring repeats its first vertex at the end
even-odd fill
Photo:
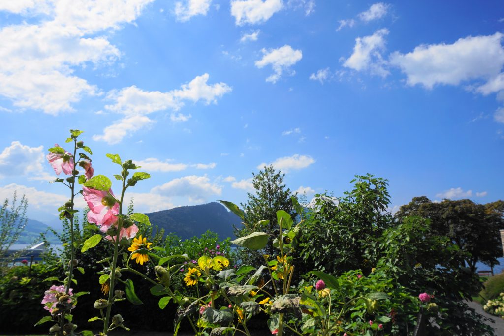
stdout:
POLYGON ((504 48, 504 34, 466 37, 453 44, 419 45, 412 52, 392 53, 390 63, 401 68, 407 76, 407 84, 421 84, 432 89, 436 84, 459 85, 468 80, 488 80, 477 89, 483 94, 500 90, 498 83, 504 48))

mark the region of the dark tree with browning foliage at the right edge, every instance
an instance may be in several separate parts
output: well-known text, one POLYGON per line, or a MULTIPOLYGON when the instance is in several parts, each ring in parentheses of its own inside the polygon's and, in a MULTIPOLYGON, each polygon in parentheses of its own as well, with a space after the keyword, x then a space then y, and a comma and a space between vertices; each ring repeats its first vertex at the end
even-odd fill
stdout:
POLYGON ((476 204, 470 199, 432 202, 425 196, 415 197, 396 213, 400 221, 405 217, 420 216, 430 219, 432 233, 447 236, 464 252, 462 262, 472 272, 478 261, 492 267, 502 256, 499 229, 504 228, 502 201, 486 205, 476 204))

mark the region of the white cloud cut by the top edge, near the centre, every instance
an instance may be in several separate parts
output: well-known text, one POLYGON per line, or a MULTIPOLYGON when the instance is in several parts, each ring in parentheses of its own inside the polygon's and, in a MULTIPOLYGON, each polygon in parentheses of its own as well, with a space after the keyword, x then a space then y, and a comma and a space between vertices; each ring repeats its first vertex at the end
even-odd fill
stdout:
POLYGON ((282 0, 232 0, 231 15, 238 26, 263 23, 282 7, 282 0))

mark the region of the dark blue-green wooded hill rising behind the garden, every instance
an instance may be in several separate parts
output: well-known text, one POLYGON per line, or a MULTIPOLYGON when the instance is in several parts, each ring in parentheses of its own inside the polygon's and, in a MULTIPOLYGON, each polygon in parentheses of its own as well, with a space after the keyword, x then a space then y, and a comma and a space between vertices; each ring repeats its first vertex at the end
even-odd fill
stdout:
POLYGON ((185 206, 148 213, 152 225, 173 232, 182 239, 199 236, 207 230, 217 233, 221 239, 234 238, 233 224, 240 225, 240 218, 216 202, 199 206, 185 206))

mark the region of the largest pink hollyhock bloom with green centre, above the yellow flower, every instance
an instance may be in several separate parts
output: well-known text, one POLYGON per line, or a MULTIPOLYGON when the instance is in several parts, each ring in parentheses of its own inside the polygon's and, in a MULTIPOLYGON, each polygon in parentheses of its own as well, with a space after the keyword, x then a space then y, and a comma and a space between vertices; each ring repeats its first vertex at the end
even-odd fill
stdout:
POLYGON ((112 189, 102 191, 82 187, 82 191, 84 200, 90 209, 87 215, 89 223, 102 226, 105 222, 111 221, 112 217, 115 217, 113 215, 119 213, 119 204, 114 198, 112 189))

